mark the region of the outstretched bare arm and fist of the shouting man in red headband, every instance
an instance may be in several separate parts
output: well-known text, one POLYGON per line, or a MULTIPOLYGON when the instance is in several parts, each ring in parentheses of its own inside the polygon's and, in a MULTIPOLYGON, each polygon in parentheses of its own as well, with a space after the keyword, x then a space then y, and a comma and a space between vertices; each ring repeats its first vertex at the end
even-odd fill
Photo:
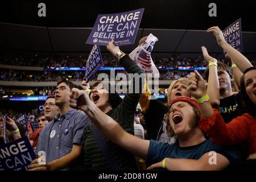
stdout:
POLYGON ((96 125, 98 130, 106 138, 117 143, 125 150, 132 152, 134 155, 147 158, 149 140, 143 140, 127 133, 122 127, 103 113, 96 105, 90 101, 90 98, 83 90, 73 88, 71 91, 69 104, 74 109, 84 111, 91 121, 96 125))

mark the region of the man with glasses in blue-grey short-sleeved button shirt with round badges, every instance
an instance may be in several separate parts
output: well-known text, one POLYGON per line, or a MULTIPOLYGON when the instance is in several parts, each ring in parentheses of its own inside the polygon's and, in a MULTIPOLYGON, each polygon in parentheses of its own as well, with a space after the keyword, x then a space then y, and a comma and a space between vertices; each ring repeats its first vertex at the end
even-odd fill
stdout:
MULTIPOLYGON (((81 154, 81 139, 84 127, 90 119, 82 111, 69 106, 69 94, 76 85, 67 78, 57 83, 55 105, 60 113, 42 130, 35 153, 45 155, 35 159, 28 166, 31 170, 72 170, 78 169, 77 159, 81 154)), ((47 105, 51 106, 50 104, 47 105)))

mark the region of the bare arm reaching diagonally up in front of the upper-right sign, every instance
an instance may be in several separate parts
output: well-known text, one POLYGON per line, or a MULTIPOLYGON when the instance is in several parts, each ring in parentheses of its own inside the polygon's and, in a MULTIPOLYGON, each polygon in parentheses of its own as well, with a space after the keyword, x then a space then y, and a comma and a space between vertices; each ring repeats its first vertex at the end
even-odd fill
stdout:
POLYGON ((243 73, 245 69, 253 67, 250 61, 242 55, 239 51, 234 49, 228 43, 226 43, 222 31, 219 27, 210 27, 207 32, 213 32, 213 35, 216 37, 218 46, 222 47, 226 51, 231 60, 234 61, 234 64, 241 70, 243 73))

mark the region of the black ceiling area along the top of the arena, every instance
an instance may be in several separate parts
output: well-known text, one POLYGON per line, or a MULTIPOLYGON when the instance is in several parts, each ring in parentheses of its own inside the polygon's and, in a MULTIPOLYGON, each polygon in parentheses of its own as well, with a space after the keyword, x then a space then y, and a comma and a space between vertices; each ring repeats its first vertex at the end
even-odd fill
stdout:
POLYGON ((252 0, 9 0, 1 1, 0 22, 41 27, 93 27, 98 14, 141 9, 140 28, 207 30, 221 29, 242 18, 242 31, 256 32, 256 6, 252 0), (46 5, 46 17, 38 16, 39 3, 46 5), (215 3, 217 16, 209 16, 215 3))

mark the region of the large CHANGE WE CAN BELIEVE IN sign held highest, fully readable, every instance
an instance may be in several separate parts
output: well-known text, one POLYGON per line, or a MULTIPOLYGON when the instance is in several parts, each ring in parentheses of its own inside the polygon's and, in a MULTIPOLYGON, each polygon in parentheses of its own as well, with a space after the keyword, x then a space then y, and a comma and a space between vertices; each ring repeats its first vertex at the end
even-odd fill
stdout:
POLYGON ((134 44, 143 11, 144 8, 124 13, 98 15, 86 44, 108 46, 112 39, 115 41, 115 46, 134 44))

